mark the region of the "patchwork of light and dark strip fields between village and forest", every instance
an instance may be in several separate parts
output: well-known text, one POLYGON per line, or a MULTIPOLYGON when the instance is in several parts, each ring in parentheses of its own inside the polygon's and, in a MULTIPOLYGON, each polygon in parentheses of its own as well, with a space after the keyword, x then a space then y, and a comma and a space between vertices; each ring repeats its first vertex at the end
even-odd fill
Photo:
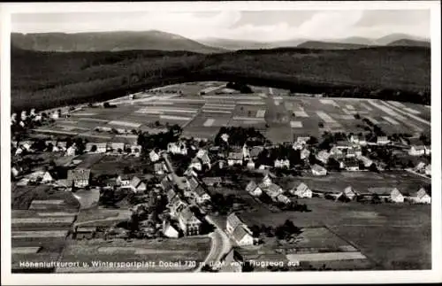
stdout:
POLYGON ((224 126, 254 127, 271 141, 292 141, 298 135, 320 136, 324 131, 362 132, 367 118, 387 134, 420 134, 430 130, 430 109, 419 104, 371 99, 289 97, 282 89, 252 87, 253 94, 222 89, 223 82, 190 82, 112 100, 116 108, 83 106, 38 132, 80 135, 94 141, 133 143, 133 129, 152 133, 178 124, 188 137, 213 139, 224 126), (225 90, 225 91, 223 91, 225 90), (201 93, 203 91, 204 93, 201 93), (223 93, 225 92, 225 93, 223 93), (202 94, 202 95, 201 95, 202 94), (101 128, 103 131, 96 131, 101 128), (117 129, 125 135, 115 135, 117 129))

